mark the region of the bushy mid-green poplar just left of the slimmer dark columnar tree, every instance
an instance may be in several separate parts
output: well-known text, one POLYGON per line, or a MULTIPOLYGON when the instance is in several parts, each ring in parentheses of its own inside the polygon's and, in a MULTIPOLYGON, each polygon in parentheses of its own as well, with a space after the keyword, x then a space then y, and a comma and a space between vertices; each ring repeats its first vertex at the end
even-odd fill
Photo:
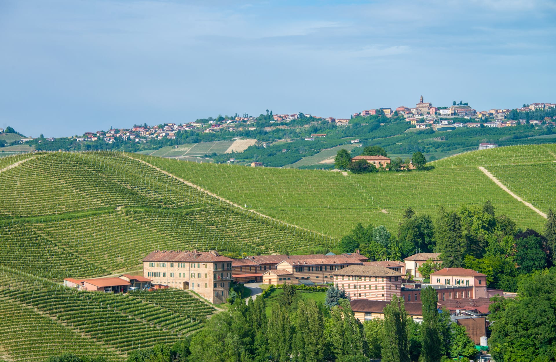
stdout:
POLYGON ((384 307, 384 328, 381 330, 383 362, 409 362, 409 318, 404 300, 396 295, 384 307))

